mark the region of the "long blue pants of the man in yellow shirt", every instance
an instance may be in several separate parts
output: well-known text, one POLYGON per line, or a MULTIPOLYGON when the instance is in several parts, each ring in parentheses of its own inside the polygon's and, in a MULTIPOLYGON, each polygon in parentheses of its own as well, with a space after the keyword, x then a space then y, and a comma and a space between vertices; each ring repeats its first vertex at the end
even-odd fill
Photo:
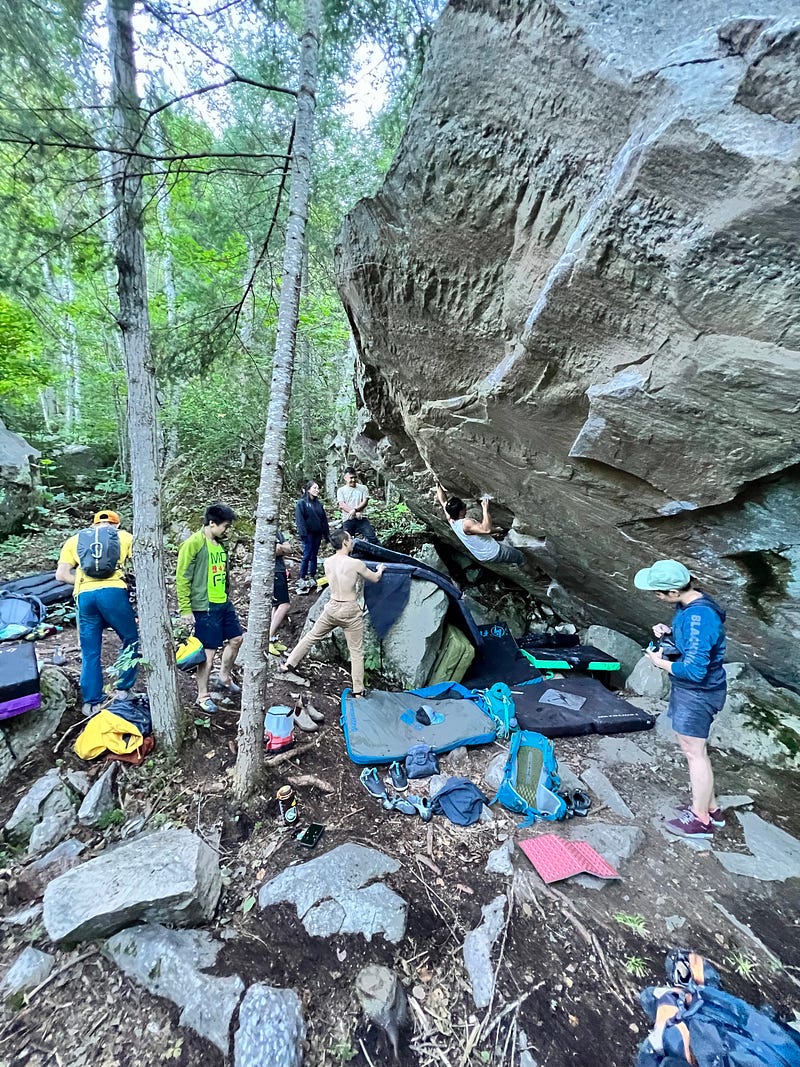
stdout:
MULTIPOLYGON (((102 632, 108 626, 123 642, 123 651, 133 647, 139 651, 139 630, 128 590, 111 586, 84 589, 78 594, 78 636, 81 642, 81 692, 87 704, 102 700, 102 632)), ((117 689, 130 689, 137 678, 137 667, 123 671, 116 680, 117 689)))

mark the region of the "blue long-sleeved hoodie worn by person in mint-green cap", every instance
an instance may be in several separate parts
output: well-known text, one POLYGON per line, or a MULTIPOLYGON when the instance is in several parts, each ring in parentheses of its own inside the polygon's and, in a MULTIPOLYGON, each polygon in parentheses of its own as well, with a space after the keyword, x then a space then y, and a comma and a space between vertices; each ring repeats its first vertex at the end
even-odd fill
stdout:
POLYGON ((686 689, 718 689, 725 684, 725 611, 703 593, 686 607, 678 604, 672 639, 681 658, 672 665, 672 681, 686 689))

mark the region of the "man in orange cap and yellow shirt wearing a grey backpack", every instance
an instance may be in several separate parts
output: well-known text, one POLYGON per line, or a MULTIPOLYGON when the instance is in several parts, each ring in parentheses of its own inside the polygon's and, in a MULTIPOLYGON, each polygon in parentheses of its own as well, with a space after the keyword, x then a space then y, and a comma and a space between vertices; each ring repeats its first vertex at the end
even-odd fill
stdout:
MULTIPOLYGON (((75 588, 81 647, 83 714, 94 715, 103 702, 102 632, 113 630, 123 642, 128 666, 116 680, 112 699, 127 697, 137 678, 139 628, 128 596, 126 569, 132 562, 133 537, 119 529, 119 515, 98 511, 90 529, 68 538, 59 556, 55 577, 75 588)), ((121 654, 122 654, 121 653, 121 654)))

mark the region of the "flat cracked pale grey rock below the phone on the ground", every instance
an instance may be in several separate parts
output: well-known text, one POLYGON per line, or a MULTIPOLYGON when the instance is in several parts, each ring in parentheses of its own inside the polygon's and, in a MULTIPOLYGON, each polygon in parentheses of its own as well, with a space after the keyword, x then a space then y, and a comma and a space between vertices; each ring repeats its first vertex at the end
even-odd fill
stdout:
POLYGON ((363 934, 371 941, 382 934, 397 942, 405 934, 407 904, 377 879, 399 870, 397 860, 383 853, 348 843, 282 872, 261 888, 258 904, 293 904, 306 930, 317 937, 363 934))

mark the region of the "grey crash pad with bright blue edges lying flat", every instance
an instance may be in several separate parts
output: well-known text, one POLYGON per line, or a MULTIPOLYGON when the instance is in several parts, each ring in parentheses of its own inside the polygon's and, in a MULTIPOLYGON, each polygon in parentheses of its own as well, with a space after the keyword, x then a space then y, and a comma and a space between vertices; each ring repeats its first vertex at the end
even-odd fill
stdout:
POLYGON ((414 745, 430 745, 434 752, 449 752, 460 745, 487 745, 495 727, 478 694, 444 683, 410 692, 370 689, 366 697, 341 697, 341 724, 348 755, 353 763, 394 763, 414 745), (425 705, 434 714, 430 726, 417 719, 425 705))

